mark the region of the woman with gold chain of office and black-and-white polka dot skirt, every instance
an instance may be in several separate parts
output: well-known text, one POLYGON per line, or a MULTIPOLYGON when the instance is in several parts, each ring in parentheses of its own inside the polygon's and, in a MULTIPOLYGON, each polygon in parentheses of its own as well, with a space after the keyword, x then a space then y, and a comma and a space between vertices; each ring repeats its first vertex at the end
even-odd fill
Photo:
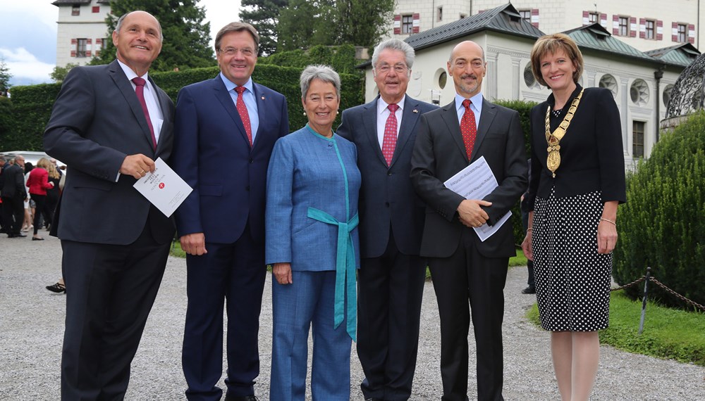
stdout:
POLYGON ((529 229, 541 326, 551 331, 563 401, 587 400, 608 326, 617 207, 626 200, 619 110, 611 91, 583 89, 582 54, 565 34, 539 38, 534 76, 551 89, 532 109, 529 229))

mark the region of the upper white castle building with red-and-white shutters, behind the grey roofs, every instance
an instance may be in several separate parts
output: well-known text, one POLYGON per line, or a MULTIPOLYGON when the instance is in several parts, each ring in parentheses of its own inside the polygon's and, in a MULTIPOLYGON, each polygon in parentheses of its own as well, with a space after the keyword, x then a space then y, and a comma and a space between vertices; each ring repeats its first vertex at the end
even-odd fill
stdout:
MULTIPOLYGON (((514 0, 522 18, 546 33, 600 23, 641 51, 704 40, 700 0, 514 0)), ((508 4, 506 0, 397 0, 388 37, 405 39, 439 25, 508 4)))

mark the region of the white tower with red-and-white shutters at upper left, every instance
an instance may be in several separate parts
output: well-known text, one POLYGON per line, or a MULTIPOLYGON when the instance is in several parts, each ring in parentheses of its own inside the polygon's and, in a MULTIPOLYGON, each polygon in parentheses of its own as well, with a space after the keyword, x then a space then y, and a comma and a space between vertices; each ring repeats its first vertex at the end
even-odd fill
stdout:
POLYGON ((104 49, 107 33, 106 16, 110 0, 56 0, 59 24, 56 32, 56 66, 69 63, 85 65, 104 49))

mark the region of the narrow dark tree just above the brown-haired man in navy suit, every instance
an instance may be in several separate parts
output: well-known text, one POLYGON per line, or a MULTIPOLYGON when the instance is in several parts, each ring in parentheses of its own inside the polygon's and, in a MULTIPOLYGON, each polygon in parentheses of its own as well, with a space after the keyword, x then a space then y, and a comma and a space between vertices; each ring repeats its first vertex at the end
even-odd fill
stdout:
POLYGON ((259 56, 268 56, 276 51, 279 12, 288 4, 288 0, 240 1, 240 20, 252 24, 259 32, 259 56))

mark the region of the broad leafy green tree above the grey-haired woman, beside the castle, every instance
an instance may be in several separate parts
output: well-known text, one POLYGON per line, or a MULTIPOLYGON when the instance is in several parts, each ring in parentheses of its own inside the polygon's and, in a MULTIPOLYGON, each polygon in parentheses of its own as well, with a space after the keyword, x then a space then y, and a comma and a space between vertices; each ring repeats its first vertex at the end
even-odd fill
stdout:
POLYGON ((394 0, 290 0, 278 25, 278 51, 352 44, 374 46, 386 33, 394 0))

